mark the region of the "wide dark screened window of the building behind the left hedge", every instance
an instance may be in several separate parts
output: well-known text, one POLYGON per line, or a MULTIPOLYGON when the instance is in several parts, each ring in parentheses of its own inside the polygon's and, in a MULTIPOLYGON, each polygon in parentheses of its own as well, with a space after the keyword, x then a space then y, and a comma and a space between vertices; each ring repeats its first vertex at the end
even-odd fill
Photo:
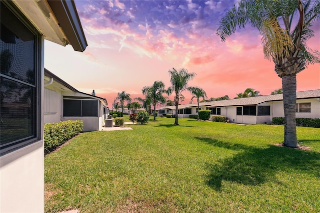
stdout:
POLYGON ((63 99, 63 116, 97 117, 97 100, 63 99))

